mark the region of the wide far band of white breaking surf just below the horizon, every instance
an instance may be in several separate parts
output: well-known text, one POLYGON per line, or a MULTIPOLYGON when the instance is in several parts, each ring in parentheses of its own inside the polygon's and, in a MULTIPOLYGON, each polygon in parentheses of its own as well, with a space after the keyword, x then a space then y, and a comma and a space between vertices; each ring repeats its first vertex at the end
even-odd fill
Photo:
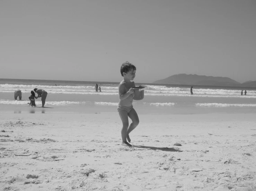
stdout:
MULTIPOLYGON (((147 85, 144 91, 145 96, 181 96, 190 97, 189 88, 152 86, 147 85)), ((104 84, 101 92, 96 92, 94 86, 36 86, 18 84, 0 84, 0 92, 11 93, 20 89, 24 93, 30 93, 35 87, 45 89, 49 94, 92 94, 92 95, 118 95, 117 84, 104 84)), ((193 89, 193 97, 212 97, 212 98, 256 98, 256 91, 247 91, 247 96, 241 96, 240 90, 227 89, 193 89)))

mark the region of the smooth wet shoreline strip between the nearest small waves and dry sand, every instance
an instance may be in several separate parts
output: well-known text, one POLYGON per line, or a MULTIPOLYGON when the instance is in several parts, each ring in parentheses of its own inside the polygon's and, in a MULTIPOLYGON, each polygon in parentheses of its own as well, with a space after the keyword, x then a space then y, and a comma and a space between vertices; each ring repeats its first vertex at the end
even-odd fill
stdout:
MULTIPOLYGON (((0 113, 78 113, 78 114, 107 114, 114 113, 117 116, 117 105, 46 105, 42 108, 42 104, 37 107, 31 107, 29 104, 0 104, 0 113)), ((197 107, 197 106, 150 106, 150 105, 134 105, 134 109, 138 115, 189 115, 189 114, 252 114, 256 113, 255 107, 197 107)))

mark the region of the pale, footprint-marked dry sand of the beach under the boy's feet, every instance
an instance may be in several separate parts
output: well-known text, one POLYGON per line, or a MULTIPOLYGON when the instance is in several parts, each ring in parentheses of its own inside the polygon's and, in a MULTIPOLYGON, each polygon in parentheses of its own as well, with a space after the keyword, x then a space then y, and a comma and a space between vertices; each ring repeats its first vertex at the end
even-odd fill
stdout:
POLYGON ((255 114, 0 113, 0 189, 256 190, 255 114), (182 146, 174 146, 180 143, 182 146))

